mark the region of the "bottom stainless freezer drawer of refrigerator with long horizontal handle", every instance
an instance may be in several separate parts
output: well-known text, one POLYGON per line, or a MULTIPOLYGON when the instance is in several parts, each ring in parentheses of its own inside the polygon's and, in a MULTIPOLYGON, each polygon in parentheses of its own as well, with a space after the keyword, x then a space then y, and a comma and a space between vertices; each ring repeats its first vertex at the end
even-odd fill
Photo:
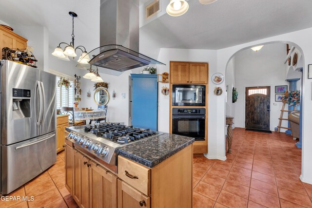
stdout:
POLYGON ((56 132, 17 144, 1 146, 1 191, 8 194, 57 160, 56 132))

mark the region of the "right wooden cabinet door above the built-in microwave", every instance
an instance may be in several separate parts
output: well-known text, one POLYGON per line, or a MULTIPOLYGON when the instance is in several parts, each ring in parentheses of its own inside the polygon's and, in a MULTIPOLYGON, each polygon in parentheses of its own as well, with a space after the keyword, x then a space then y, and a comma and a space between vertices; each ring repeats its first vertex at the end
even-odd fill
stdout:
POLYGON ((208 83, 208 64, 190 63, 190 83, 207 84, 208 83))

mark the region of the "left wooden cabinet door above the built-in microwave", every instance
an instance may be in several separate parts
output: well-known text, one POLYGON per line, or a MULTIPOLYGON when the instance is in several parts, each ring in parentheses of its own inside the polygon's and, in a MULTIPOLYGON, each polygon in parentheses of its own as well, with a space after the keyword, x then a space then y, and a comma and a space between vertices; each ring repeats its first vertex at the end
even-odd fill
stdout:
POLYGON ((170 63, 170 83, 189 83, 188 63, 170 63))

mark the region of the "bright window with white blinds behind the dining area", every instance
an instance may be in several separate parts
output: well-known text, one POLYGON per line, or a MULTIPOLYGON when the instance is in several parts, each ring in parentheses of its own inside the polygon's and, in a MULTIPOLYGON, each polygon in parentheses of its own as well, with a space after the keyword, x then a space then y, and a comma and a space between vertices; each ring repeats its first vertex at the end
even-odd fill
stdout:
MULTIPOLYGON (((57 84, 60 77, 57 76, 57 84)), ((66 89, 64 86, 57 85, 57 109, 61 107, 73 107, 74 102, 74 82, 69 81, 72 87, 66 89)))

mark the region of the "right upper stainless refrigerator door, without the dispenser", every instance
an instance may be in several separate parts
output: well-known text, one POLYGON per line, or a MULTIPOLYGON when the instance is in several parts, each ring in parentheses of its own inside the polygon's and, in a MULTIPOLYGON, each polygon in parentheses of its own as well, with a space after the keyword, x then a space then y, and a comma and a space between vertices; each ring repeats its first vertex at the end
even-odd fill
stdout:
POLYGON ((43 95, 43 111, 40 120, 40 135, 56 131, 57 111, 56 111, 56 76, 40 71, 40 86, 43 95))

